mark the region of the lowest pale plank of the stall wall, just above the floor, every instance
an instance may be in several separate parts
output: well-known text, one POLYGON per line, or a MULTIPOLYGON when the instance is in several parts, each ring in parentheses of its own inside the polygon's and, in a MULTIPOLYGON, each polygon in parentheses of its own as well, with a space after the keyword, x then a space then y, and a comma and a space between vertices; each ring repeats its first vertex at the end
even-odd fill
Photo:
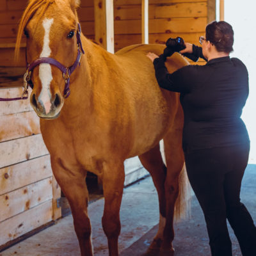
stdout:
POLYGON ((52 220, 52 200, 0 223, 0 245, 52 220))

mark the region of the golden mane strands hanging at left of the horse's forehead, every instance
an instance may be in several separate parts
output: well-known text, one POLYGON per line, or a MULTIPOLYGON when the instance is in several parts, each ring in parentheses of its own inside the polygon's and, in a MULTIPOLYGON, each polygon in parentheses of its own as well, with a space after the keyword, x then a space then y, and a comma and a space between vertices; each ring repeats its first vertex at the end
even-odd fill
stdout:
POLYGON ((44 5, 44 8, 40 12, 40 15, 43 15, 49 4, 53 3, 54 0, 31 0, 25 9, 21 20, 19 24, 19 29, 17 33, 17 39, 16 39, 16 45, 15 45, 15 61, 19 58, 19 53, 20 53, 20 42, 22 35, 24 33, 24 28, 28 24, 29 20, 32 18, 32 16, 35 14, 35 12, 44 5))

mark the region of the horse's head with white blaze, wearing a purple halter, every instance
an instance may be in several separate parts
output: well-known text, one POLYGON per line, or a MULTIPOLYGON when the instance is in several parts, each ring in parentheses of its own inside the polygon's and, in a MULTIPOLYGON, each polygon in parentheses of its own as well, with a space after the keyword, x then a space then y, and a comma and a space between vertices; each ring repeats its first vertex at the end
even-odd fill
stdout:
POLYGON ((69 76, 83 51, 78 4, 79 0, 30 0, 20 21, 15 53, 19 54, 25 33, 26 76, 33 88, 30 102, 41 118, 56 118, 69 95, 69 76))

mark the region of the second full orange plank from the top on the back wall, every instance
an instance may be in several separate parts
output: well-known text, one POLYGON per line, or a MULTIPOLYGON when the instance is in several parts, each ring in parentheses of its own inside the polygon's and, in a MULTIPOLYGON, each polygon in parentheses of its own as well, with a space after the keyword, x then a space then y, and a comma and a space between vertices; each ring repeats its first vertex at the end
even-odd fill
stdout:
MULTIPOLYGON (((149 33, 195 33, 205 30, 206 17, 149 20, 149 33)), ((140 20, 115 20, 115 34, 140 34, 140 20)))

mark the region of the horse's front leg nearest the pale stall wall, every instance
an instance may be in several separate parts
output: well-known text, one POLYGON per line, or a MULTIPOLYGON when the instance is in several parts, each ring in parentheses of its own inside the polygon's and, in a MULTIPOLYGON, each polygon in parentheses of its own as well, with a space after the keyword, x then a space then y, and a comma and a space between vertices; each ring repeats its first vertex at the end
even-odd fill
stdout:
POLYGON ((63 159, 51 158, 52 172, 67 197, 74 218, 74 228, 79 241, 81 256, 93 256, 91 224, 88 217, 88 190, 86 172, 63 159))

